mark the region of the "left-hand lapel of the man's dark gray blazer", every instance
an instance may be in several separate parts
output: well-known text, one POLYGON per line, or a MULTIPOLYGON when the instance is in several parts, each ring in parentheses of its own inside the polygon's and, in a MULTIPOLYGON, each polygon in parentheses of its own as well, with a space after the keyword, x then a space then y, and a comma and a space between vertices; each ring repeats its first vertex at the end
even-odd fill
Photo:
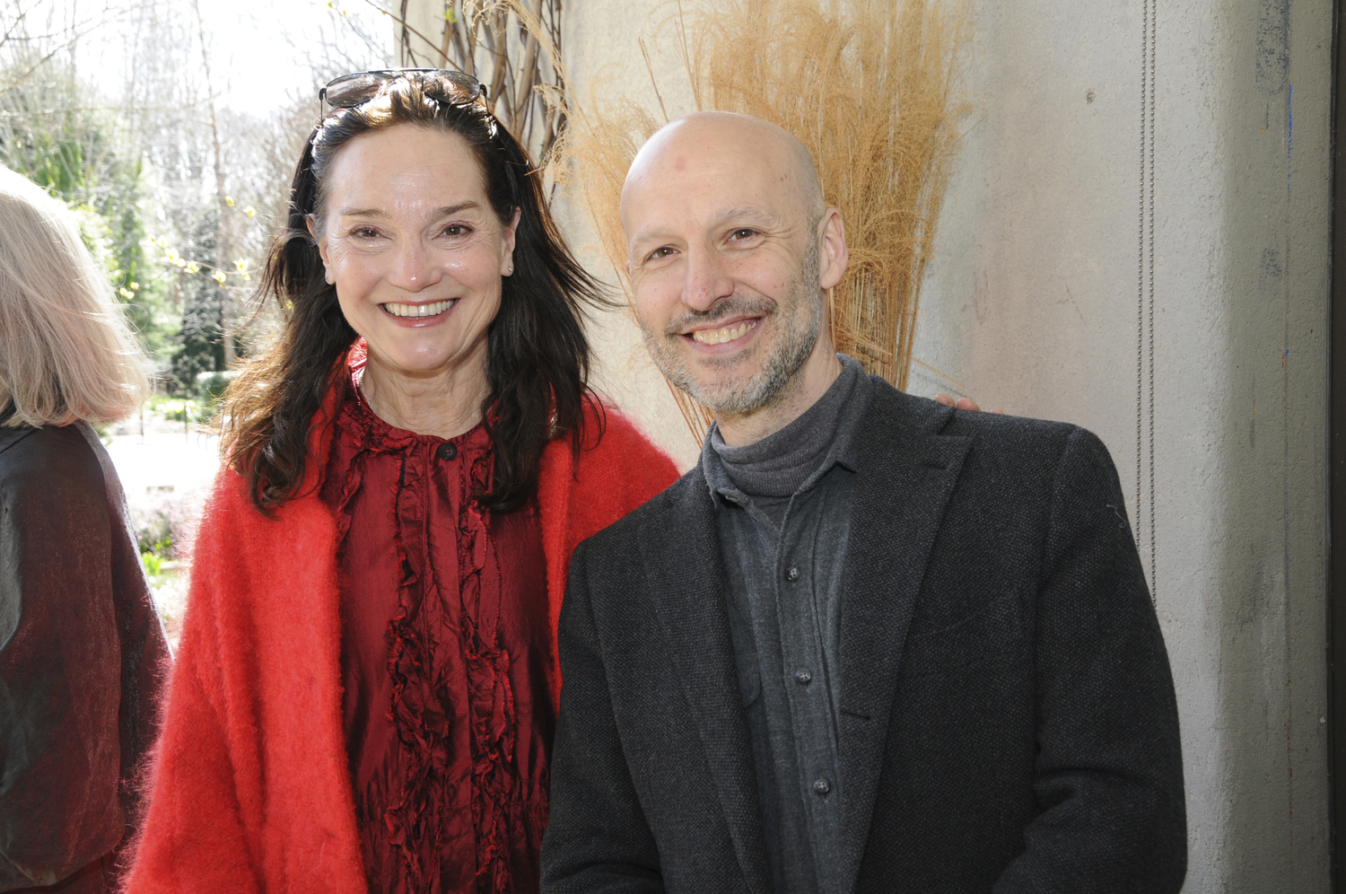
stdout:
POLYGON ((673 512, 646 525, 641 551, 650 598, 692 708, 690 720, 701 739, 739 866, 750 890, 769 894, 756 774, 730 637, 724 560, 715 505, 699 470, 668 491, 665 498, 673 512))

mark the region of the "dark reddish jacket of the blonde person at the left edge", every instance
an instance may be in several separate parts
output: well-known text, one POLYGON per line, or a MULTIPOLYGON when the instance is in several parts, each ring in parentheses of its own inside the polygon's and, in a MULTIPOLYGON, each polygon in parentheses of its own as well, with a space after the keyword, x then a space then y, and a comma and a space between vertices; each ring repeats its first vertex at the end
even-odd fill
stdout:
POLYGON ((0 428, 0 891, 104 891, 168 645, 86 424, 0 428))

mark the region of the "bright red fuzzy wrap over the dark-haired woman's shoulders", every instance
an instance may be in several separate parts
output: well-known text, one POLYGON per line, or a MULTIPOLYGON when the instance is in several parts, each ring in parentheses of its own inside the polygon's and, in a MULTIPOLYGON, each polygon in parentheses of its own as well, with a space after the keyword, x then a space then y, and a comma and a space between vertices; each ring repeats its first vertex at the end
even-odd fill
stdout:
MULTIPOLYGON (((592 431, 595 413, 586 415, 592 431)), ((215 482, 128 881, 135 894, 366 890, 342 735, 336 521, 316 487, 330 444, 331 427, 315 425, 306 495, 275 520, 252 506, 237 473, 215 482)), ((575 547, 676 477, 611 409, 577 465, 569 439, 548 444, 538 505, 553 637, 575 547)), ((556 699, 560 670, 552 676, 556 699)))

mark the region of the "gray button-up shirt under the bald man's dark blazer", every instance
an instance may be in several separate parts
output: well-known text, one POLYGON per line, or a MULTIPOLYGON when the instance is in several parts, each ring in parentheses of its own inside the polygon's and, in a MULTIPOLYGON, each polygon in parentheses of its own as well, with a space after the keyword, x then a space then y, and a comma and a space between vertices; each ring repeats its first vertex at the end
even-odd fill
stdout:
POLYGON ((821 462, 787 500, 744 493, 731 477, 735 465, 720 454, 746 448, 725 448, 715 429, 701 451, 728 574, 730 629, 767 858, 782 894, 833 894, 843 885, 837 859, 844 794, 837 770, 841 571, 857 435, 872 385, 856 361, 841 355, 841 362, 845 369, 828 393, 754 444, 762 462, 747 467, 754 474, 739 475, 751 481, 763 467, 789 466, 791 451, 810 459, 824 446, 816 443, 818 432, 826 435, 830 427, 821 462))

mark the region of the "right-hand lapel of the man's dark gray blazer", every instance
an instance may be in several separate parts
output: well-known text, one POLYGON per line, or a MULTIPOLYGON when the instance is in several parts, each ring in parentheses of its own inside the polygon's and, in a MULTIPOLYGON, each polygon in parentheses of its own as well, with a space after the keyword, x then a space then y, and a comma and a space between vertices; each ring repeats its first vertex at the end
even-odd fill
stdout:
POLYGON ((952 409, 876 384, 860 435, 841 607, 841 859, 853 890, 870 837, 898 668, 917 594, 970 439, 952 409))

